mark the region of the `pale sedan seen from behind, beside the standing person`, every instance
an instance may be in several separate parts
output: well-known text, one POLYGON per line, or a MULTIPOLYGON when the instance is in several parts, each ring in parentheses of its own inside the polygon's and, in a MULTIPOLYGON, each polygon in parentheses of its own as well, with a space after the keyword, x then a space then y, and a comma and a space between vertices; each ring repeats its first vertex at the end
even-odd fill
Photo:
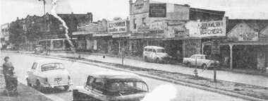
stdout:
POLYGON ((54 88, 56 86, 63 86, 64 90, 68 90, 69 85, 73 85, 70 74, 64 68, 61 61, 57 59, 35 61, 25 77, 28 86, 35 85, 37 90, 54 88))

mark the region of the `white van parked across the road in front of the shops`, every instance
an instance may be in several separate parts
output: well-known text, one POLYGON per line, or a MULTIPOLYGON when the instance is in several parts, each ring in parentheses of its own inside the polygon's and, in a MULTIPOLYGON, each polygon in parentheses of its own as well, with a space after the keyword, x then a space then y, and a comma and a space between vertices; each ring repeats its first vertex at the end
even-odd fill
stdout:
POLYGON ((143 59, 145 59, 145 61, 161 63, 166 61, 167 57, 169 57, 169 55, 166 54, 163 47, 147 46, 143 51, 143 59))

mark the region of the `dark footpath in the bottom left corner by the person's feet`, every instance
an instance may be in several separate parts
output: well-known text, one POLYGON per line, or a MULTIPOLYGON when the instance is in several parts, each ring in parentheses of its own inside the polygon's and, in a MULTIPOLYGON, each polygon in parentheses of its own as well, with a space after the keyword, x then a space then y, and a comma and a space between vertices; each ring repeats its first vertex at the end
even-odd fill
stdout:
POLYGON ((18 82, 18 95, 8 96, 4 93, 5 90, 5 80, 0 69, 0 100, 1 101, 53 101, 46 97, 44 94, 39 93, 34 88, 30 88, 23 83, 18 82))

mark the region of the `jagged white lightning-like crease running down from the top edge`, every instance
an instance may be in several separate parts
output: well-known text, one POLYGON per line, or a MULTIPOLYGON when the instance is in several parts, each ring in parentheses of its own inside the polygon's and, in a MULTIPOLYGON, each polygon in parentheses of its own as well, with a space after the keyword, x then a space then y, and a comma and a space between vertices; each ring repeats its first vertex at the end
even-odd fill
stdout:
POLYGON ((55 18, 57 18, 57 19, 59 19, 59 20, 61 21, 63 27, 65 28, 65 36, 66 36, 66 39, 68 40, 69 44, 71 44, 71 47, 74 47, 73 44, 72 44, 72 42, 71 42, 71 40, 70 40, 70 37, 68 36, 68 27, 67 27, 65 21, 62 20, 61 17, 59 17, 59 16, 56 14, 56 6, 57 6, 57 5, 56 5, 56 1, 58 1, 58 0, 53 0, 53 1, 52 1, 51 14, 52 14, 55 18))

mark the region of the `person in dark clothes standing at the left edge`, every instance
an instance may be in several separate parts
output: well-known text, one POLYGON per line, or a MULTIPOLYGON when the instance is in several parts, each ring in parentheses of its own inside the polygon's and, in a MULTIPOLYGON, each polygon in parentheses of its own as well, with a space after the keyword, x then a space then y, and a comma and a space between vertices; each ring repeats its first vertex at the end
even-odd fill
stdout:
POLYGON ((3 74, 5 78, 6 88, 8 88, 8 71, 14 70, 12 63, 9 61, 9 57, 4 58, 5 63, 3 64, 3 74))

